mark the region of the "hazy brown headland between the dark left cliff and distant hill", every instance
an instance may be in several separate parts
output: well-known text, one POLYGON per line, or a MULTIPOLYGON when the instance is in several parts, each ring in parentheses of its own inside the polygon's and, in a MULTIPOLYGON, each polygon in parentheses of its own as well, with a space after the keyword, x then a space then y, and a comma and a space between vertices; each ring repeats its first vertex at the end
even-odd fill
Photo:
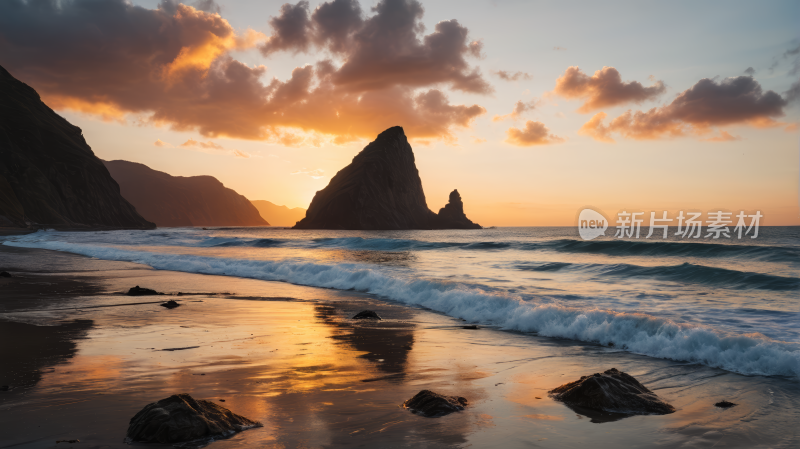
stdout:
POLYGON ((135 162, 103 163, 122 196, 158 226, 269 226, 247 198, 213 176, 171 176, 135 162))

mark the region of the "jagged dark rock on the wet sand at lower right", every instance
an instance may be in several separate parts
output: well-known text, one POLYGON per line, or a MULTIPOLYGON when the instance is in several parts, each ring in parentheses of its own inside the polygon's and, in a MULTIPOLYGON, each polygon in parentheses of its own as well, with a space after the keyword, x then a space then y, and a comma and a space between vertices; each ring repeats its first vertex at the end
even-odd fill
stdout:
POLYGON ((675 411, 633 376, 616 368, 583 376, 551 390, 550 395, 567 405, 604 412, 663 415, 675 411))

